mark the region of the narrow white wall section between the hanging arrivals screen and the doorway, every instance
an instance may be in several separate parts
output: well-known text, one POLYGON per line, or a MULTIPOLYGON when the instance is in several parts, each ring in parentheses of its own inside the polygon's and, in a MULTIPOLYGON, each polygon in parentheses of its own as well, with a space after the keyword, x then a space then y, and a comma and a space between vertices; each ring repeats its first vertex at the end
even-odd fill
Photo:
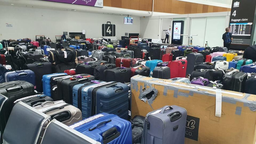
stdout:
POLYGON ((140 19, 140 37, 160 39, 161 19, 149 19, 149 17, 140 19))

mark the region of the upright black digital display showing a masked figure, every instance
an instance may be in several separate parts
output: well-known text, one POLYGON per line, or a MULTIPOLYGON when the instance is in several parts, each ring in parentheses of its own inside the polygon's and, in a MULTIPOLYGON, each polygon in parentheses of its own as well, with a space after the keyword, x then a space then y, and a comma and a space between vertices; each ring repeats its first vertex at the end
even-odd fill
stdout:
POLYGON ((181 34, 183 34, 183 27, 184 21, 173 21, 171 43, 179 45, 182 44, 183 37, 181 37, 181 34))

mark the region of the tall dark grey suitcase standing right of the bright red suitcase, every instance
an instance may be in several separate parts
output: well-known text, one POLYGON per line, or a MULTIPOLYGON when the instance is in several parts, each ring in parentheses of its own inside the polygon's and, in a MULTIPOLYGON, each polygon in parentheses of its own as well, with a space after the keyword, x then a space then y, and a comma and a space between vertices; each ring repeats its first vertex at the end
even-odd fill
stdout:
POLYGON ((187 54, 187 71, 186 74, 191 74, 196 65, 203 63, 203 55, 200 53, 187 54))

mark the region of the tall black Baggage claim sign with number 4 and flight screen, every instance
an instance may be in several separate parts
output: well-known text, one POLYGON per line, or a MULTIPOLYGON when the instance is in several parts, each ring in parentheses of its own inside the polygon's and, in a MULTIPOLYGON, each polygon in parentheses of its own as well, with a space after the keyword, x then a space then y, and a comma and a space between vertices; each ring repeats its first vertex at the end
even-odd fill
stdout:
POLYGON ((229 21, 229 32, 234 39, 231 49, 246 49, 252 44, 255 5, 255 0, 233 0, 229 21))

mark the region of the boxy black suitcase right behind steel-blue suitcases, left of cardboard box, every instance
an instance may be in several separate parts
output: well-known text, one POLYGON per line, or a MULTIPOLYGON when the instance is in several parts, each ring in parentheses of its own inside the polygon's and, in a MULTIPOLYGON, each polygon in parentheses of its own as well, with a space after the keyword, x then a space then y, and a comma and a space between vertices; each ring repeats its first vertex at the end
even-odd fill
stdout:
POLYGON ((116 81, 116 82, 130 82, 131 81, 131 68, 120 68, 108 69, 104 71, 105 81, 116 81))

